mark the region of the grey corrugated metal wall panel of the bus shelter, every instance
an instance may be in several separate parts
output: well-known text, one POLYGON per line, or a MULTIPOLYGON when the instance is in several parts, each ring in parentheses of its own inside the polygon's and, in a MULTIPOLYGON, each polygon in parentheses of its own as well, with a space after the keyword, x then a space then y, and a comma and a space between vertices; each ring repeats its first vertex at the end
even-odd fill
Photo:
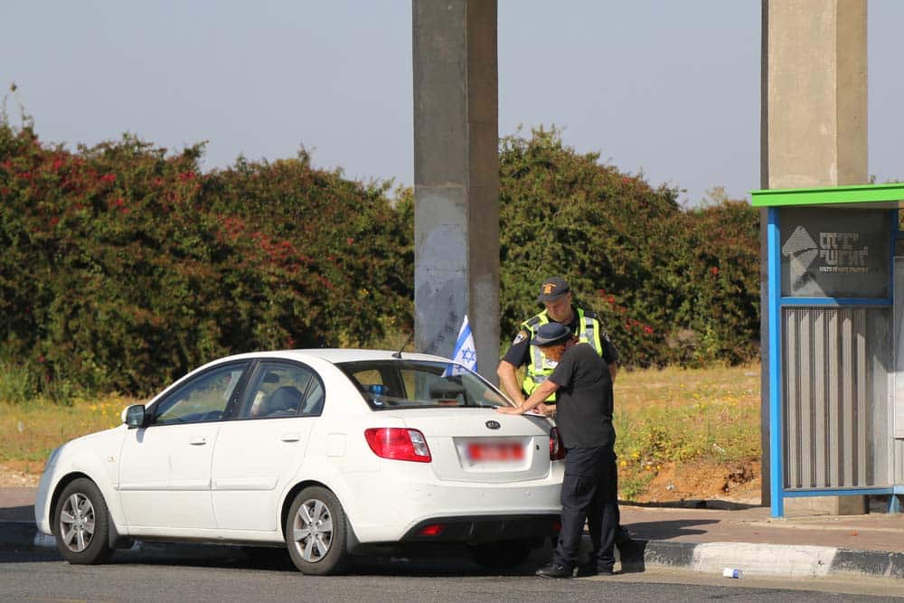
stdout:
POLYGON ((786 307, 784 482, 888 485, 890 309, 786 307))

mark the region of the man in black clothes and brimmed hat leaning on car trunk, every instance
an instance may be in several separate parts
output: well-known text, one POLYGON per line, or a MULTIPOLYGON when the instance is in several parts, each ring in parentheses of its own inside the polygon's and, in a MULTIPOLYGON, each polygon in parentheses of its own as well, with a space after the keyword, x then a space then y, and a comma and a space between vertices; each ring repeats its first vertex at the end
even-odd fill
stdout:
POLYGON ((593 346, 582 344, 565 325, 547 323, 531 344, 557 364, 551 375, 518 406, 497 409, 520 414, 556 393, 556 423, 567 454, 561 492, 561 531, 543 578, 570 578, 578 565, 580 537, 588 523, 593 545, 585 574, 612 574, 618 523, 616 432, 612 426, 612 376, 593 346))

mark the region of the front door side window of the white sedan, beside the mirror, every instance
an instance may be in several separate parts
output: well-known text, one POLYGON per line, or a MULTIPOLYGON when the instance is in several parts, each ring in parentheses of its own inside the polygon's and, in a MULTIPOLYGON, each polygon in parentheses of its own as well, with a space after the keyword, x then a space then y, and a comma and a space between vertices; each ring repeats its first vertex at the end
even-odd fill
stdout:
POLYGON ((238 386, 247 363, 231 363, 202 372, 160 400, 154 425, 220 420, 238 386))

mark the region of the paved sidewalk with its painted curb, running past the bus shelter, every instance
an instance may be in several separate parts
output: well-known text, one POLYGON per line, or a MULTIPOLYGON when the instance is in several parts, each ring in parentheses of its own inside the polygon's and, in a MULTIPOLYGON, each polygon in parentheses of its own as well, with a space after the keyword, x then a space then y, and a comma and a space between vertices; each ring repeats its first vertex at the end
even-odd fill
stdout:
MULTIPOLYGON (((0 550, 52 547, 37 534, 36 489, 0 487, 0 550)), ((904 514, 772 519, 766 507, 621 505, 634 542, 620 551, 625 571, 680 567, 721 574, 823 577, 856 573, 904 579, 904 514)))

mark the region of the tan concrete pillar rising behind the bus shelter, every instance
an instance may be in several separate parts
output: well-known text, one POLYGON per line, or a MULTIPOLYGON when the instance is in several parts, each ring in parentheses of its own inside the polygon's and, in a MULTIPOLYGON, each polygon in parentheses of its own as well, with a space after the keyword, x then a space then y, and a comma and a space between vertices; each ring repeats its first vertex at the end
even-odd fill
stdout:
MULTIPOLYGON (((867 183, 866 0, 763 0, 762 52, 762 188, 867 183)), ((762 405, 767 426, 767 387, 762 405)), ((785 504, 820 499, 827 513, 865 513, 865 496, 785 504)))

